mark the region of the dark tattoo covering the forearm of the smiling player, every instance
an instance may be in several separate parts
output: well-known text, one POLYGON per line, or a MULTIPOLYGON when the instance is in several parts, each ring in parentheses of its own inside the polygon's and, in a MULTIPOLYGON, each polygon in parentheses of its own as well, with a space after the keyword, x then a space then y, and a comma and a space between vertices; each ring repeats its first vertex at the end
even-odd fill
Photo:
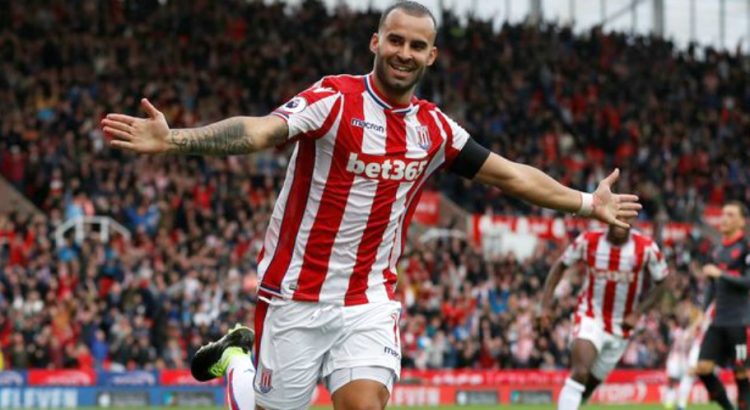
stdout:
POLYGON ((169 132, 173 153, 195 155, 234 155, 256 151, 240 118, 229 118, 200 128, 169 132))

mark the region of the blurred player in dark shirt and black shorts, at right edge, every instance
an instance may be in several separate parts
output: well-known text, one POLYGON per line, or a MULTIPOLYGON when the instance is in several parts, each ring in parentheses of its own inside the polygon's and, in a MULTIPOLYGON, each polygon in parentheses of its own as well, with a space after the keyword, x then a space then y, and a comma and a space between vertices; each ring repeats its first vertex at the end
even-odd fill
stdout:
POLYGON ((748 326, 750 326, 750 248, 745 238, 747 209, 738 201, 722 208, 719 231, 722 242, 713 250, 703 274, 709 278, 705 306, 716 301, 716 315, 701 344, 697 373, 711 400, 723 409, 734 407, 714 368, 733 362, 737 383, 737 407, 748 409, 750 382, 747 374, 748 326))

